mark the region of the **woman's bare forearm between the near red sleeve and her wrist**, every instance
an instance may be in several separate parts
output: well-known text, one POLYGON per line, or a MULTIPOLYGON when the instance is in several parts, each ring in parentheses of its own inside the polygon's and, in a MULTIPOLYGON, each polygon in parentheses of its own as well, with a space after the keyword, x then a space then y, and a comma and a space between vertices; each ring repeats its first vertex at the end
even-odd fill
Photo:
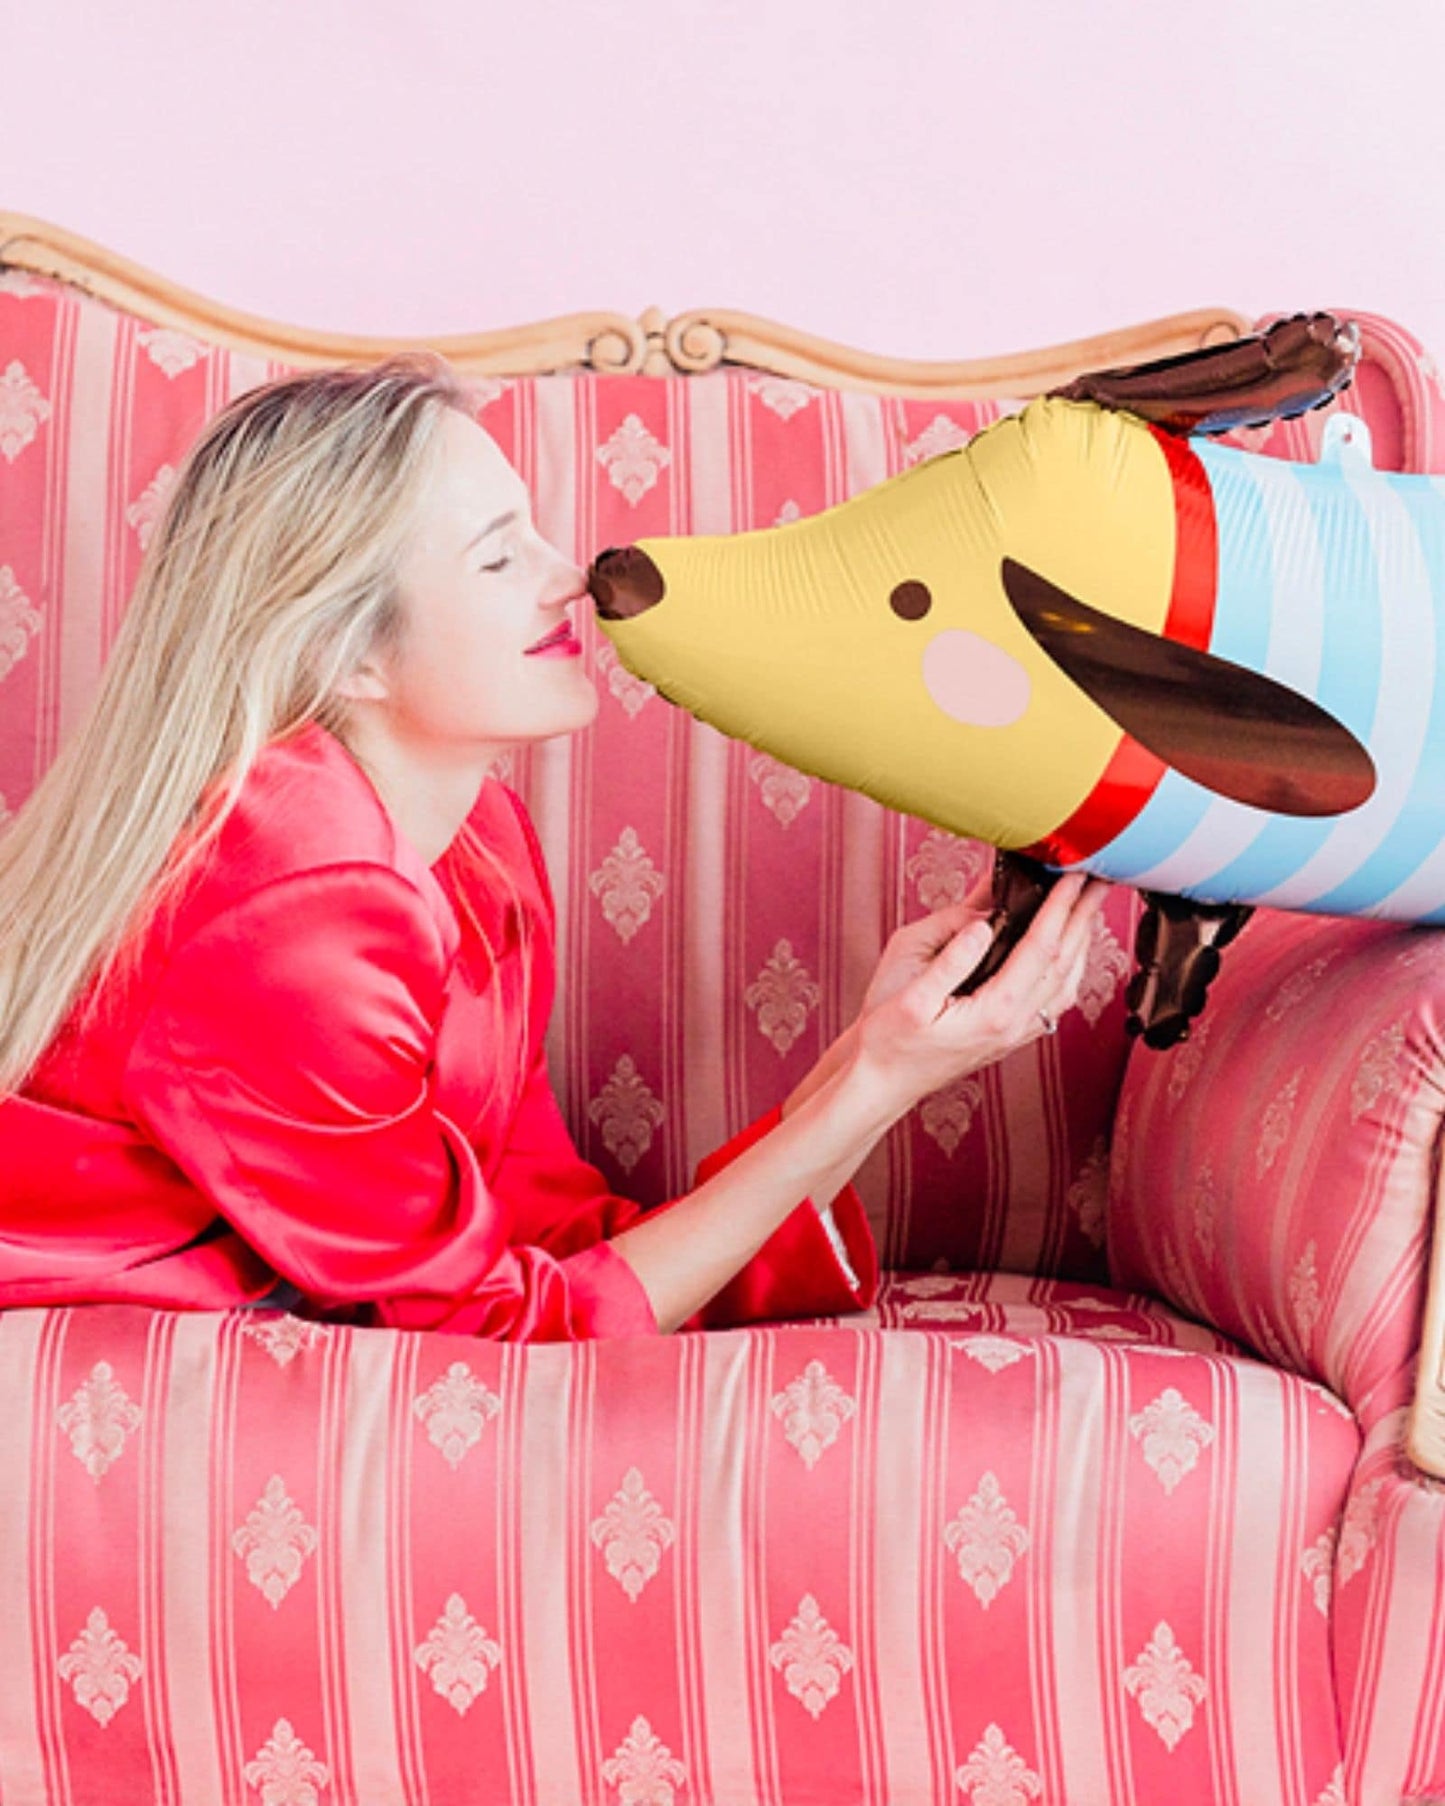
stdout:
POLYGON ((784 1122, 706 1185, 612 1237, 661 1331, 715 1297, 804 1199, 836 1197, 900 1114, 847 1060, 795 1098, 784 1122))

